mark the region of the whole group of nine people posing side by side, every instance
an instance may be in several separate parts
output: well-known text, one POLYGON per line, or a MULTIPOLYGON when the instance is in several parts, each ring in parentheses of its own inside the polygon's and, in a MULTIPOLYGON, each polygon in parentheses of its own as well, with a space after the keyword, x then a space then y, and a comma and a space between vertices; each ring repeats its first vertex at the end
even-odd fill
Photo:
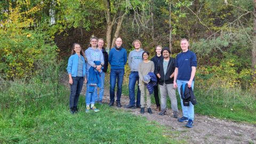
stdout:
MULTIPOLYGON (((115 104, 115 86, 117 83, 116 106, 121 105, 122 84, 124 77, 124 66, 128 60, 131 69, 129 75, 129 105, 125 108, 140 108, 140 113, 147 112, 152 114, 150 94, 154 92, 156 109, 160 111, 159 115, 166 114, 167 95, 171 100, 171 108, 173 117, 178 118, 178 105, 175 89, 181 98, 184 86, 194 89, 194 77, 196 73, 197 60, 196 54, 189 51, 189 42, 183 38, 180 41, 182 52, 174 59, 171 57, 169 47, 162 48, 161 45, 156 46, 156 55, 149 60, 149 52, 142 49, 142 44, 138 39, 132 42, 134 50, 129 53, 122 46, 122 38, 118 37, 115 41, 116 46, 113 47, 109 54, 103 47, 103 39, 92 37, 90 39, 91 47, 85 53, 81 45, 75 43, 68 60, 68 75, 70 84, 70 100, 69 107, 72 114, 77 113, 77 102, 81 93, 83 83, 86 83, 86 112, 93 110, 99 111, 94 105, 95 102, 102 104, 104 93, 105 73, 110 64, 110 102, 109 106, 115 104), (117 81, 117 82, 116 82, 117 81), (137 97, 135 97, 135 84, 138 82, 137 97), (158 89, 159 86, 159 89, 158 89), (99 87, 99 95, 97 91, 99 87), (183 88, 183 89, 182 89, 183 88), (160 92, 160 101, 158 96, 160 92), (145 102, 146 98, 146 102, 145 102)), ((179 122, 187 122, 186 127, 193 127, 194 121, 194 105, 184 106, 181 98, 182 114, 178 118, 179 122)))

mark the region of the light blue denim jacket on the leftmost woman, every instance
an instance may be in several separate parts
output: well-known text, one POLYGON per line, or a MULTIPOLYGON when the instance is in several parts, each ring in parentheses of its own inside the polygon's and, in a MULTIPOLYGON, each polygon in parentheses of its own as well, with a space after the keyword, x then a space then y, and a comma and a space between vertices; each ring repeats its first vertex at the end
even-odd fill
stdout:
MULTIPOLYGON (((85 60, 82 55, 81 55, 81 57, 83 60, 83 76, 86 77, 85 60)), ((68 71, 68 74, 71 74, 72 77, 76 77, 76 75, 77 75, 78 58, 79 58, 78 55, 75 53, 75 54, 71 55, 68 59, 67 71, 68 71)))

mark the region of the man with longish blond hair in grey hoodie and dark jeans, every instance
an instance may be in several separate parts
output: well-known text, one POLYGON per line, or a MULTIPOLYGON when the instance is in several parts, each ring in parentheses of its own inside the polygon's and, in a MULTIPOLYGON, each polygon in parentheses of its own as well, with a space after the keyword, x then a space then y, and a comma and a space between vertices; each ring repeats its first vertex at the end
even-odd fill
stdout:
POLYGON ((128 57, 128 64, 131 69, 131 74, 129 76, 129 98, 130 103, 129 105, 125 106, 125 108, 140 108, 140 89, 138 86, 137 91, 137 101, 135 102, 135 84, 138 82, 139 84, 139 73, 138 73, 138 67, 139 63, 142 61, 142 53, 144 52, 141 49, 141 42, 139 39, 135 39, 132 42, 132 45, 134 46, 134 50, 129 53, 128 57))

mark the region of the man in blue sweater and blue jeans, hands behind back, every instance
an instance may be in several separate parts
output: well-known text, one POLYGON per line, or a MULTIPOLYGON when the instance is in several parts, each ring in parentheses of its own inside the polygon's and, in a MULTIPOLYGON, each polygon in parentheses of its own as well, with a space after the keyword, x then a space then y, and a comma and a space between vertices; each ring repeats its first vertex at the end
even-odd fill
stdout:
POLYGON ((117 79, 117 100, 116 106, 122 107, 120 103, 121 94, 122 94, 122 85, 123 85, 123 78, 124 78, 124 66, 127 62, 127 52, 122 47, 122 39, 118 37, 116 39, 116 46, 113 47, 109 51, 109 58, 108 62, 111 66, 110 69, 110 102, 109 106, 113 106, 115 102, 115 86, 116 86, 116 79, 117 79))

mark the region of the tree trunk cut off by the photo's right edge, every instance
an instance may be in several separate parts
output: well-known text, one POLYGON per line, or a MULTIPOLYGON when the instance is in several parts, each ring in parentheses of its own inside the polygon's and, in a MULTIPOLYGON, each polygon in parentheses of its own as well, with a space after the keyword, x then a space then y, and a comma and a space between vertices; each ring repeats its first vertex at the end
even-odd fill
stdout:
POLYGON ((256 0, 254 0, 253 11, 252 70, 253 77, 256 78, 256 0))

